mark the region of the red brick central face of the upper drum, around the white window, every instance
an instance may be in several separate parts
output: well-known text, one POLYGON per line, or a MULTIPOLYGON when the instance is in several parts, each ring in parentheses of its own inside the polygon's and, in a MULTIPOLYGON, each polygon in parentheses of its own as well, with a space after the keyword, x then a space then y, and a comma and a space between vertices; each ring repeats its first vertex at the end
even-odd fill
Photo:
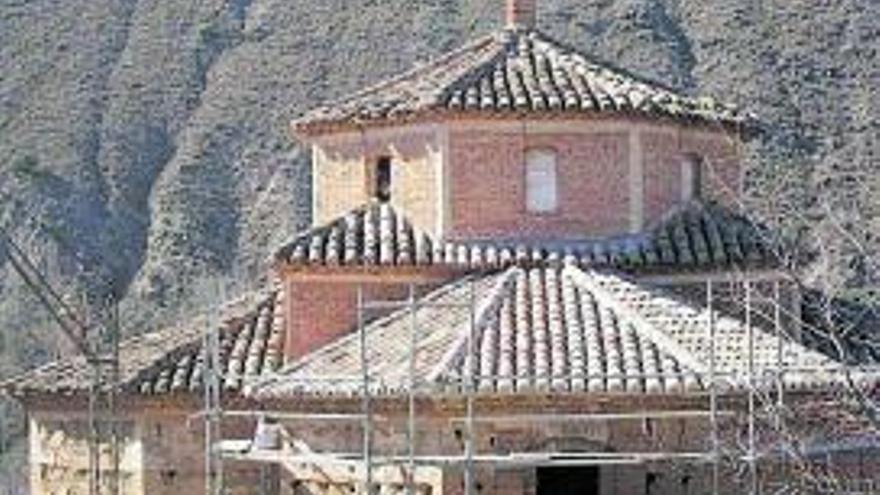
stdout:
POLYGON ((626 232, 628 139, 625 132, 450 133, 450 237, 570 238, 626 232), (557 152, 555 213, 526 211, 524 151, 531 148, 557 152))

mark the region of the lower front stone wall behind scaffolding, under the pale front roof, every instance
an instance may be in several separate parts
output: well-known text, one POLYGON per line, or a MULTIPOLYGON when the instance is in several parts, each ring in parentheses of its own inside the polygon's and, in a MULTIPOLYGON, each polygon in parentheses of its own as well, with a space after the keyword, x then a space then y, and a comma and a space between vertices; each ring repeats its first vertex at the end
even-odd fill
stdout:
MULTIPOLYGON (((457 456, 464 452, 465 425, 460 413, 454 415, 426 415, 417 417, 416 452, 424 455, 457 456)), ((383 418, 376 423, 372 453, 376 459, 385 456, 406 456, 407 434, 405 417, 388 411, 377 413, 383 418)), ((360 452, 362 433, 353 423, 317 425, 314 422, 287 422, 288 430, 295 432, 315 451, 360 452)), ((661 449, 698 451, 705 447, 707 429, 699 420, 631 419, 623 421, 554 421, 537 418, 499 421, 480 421, 476 427, 475 454, 503 456, 510 453, 577 453, 577 452, 659 452, 661 449)), ((405 465, 405 463, 404 463, 405 465)), ((531 495, 537 493, 537 469, 533 466, 498 465, 477 462, 474 483, 476 493, 531 495)), ((328 483, 320 469, 302 470, 299 478, 283 479, 284 493, 317 495, 323 493, 350 493, 360 489, 362 471, 341 473, 340 478, 328 483)), ((405 471, 377 469, 374 482, 379 493, 402 493, 405 471)), ((599 469, 601 495, 632 495, 647 493, 650 483, 652 494, 681 495, 682 485, 690 493, 703 493, 706 470, 698 466, 605 466, 599 469), (652 475, 651 473, 661 473, 652 475)), ((463 469, 450 465, 417 470, 417 493, 433 495, 463 494, 463 469), (433 481, 433 483, 431 482, 433 481), (439 485, 438 485, 439 483, 439 485)), ((735 492, 730 492, 735 493, 735 492)))

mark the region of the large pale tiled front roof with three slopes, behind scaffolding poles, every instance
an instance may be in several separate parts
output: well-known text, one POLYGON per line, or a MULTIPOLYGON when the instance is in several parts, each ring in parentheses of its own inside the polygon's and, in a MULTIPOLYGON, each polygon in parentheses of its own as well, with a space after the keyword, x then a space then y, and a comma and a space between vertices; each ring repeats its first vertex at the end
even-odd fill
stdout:
MULTIPOLYGON (((461 279, 420 301, 414 377, 423 392, 454 393, 471 369, 469 280, 476 301, 472 369, 480 392, 662 394, 705 386, 710 347, 700 308, 618 275, 574 266, 513 267, 461 279)), ((411 316, 403 310, 366 329, 372 393, 406 390, 411 316)), ((720 318, 717 328, 717 371, 724 374, 727 388, 740 388, 749 333, 732 318, 720 318)), ((775 359, 777 340, 758 328, 752 335, 760 373, 771 356, 775 359)), ((793 341, 784 340, 784 346, 784 363, 792 369, 837 366, 793 341)), ((249 393, 360 393, 359 353, 358 336, 344 337, 267 377, 249 393)), ((825 386, 832 379, 792 373, 787 384, 825 386)))

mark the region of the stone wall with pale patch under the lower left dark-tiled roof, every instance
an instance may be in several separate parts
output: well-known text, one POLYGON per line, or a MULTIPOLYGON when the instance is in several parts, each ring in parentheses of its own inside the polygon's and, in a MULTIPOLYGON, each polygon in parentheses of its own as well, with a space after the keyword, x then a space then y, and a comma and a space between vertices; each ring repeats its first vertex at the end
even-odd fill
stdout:
MULTIPOLYGON (((122 495, 177 495, 204 493, 204 423, 192 419, 194 409, 174 401, 123 416, 119 487, 122 495)), ((89 493, 88 421, 84 408, 74 411, 33 410, 30 415, 30 472, 33 495, 86 495, 89 493)), ((250 424, 228 424, 228 435, 249 434, 250 424)), ((105 473, 102 493, 110 493, 112 458, 108 443, 101 446, 105 473)), ((230 495, 254 492, 260 469, 250 465, 225 466, 230 495)))

